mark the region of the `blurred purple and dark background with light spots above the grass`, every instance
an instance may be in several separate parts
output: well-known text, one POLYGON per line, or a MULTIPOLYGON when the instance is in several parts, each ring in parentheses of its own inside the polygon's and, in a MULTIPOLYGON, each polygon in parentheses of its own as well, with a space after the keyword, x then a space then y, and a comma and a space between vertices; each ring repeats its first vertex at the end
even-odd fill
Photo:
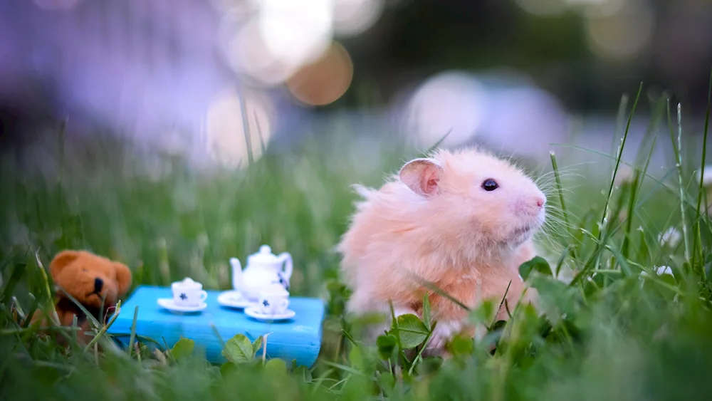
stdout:
POLYGON ((0 1, 4 149, 65 121, 227 167, 334 130, 609 150, 641 82, 632 142, 663 91, 699 135, 711 66, 707 0, 0 1))

